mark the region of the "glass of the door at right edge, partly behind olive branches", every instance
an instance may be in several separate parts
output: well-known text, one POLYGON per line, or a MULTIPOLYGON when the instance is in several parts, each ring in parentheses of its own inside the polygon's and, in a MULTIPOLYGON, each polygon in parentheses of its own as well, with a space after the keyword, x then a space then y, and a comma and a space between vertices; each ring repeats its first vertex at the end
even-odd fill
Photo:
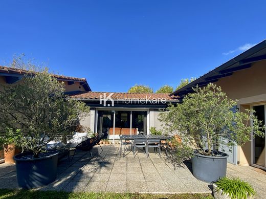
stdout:
MULTIPOLYGON (((265 105, 253 106, 254 115, 265 124, 265 105)), ((253 139, 253 164, 265 167, 265 137, 256 136, 253 139)))

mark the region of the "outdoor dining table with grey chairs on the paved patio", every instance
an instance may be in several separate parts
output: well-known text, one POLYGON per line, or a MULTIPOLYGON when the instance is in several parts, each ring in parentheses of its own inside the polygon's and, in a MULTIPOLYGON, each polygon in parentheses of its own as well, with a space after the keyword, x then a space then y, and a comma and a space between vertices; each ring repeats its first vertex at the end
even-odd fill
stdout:
POLYGON ((120 150, 119 154, 121 156, 122 149, 123 150, 123 157, 125 155, 125 151, 127 150, 127 146, 131 147, 133 151, 134 157, 136 149, 141 149, 144 153, 146 153, 147 158, 149 157, 149 148, 153 148, 154 152, 156 153, 159 150, 159 157, 161 157, 161 150, 165 149, 166 156, 168 156, 168 150, 171 147, 168 145, 167 140, 170 140, 171 137, 162 136, 162 135, 120 135, 120 150))

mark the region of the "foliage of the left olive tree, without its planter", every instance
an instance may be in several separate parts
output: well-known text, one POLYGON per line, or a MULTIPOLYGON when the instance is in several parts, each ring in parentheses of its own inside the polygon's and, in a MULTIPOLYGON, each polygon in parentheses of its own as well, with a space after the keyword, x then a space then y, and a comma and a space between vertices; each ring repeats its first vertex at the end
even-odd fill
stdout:
POLYGON ((0 92, 1 134, 5 136, 6 128, 20 129, 22 136, 16 145, 38 157, 48 142, 65 138, 79 118, 89 113, 90 107, 63 93, 64 83, 46 69, 6 86, 0 92))

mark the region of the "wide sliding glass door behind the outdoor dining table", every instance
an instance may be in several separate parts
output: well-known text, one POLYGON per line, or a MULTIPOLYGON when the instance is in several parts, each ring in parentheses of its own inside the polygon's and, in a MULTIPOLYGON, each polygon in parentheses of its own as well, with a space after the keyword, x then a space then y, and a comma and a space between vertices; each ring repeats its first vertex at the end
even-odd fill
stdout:
POLYGON ((97 132, 103 132, 109 139, 119 135, 147 134, 147 111, 98 110, 97 132))

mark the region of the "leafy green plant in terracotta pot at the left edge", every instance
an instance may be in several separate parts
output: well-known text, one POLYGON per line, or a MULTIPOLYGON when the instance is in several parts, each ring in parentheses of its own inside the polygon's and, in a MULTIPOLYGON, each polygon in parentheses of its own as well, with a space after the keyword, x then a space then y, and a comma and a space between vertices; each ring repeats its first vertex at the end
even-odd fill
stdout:
POLYGON ((6 131, 0 135, 0 142, 4 148, 5 163, 14 164, 13 157, 19 153, 16 147, 17 141, 21 138, 20 129, 13 130, 10 127, 6 127, 6 131))

